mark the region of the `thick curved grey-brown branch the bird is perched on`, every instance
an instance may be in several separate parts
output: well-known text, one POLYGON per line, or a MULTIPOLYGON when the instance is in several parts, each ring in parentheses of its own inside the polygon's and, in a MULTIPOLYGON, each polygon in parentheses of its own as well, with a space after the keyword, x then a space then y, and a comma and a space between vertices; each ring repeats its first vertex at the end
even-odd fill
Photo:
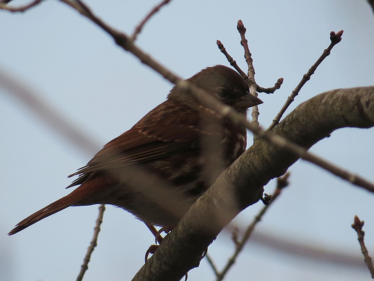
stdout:
MULTIPOLYGON (((310 148, 342 127, 374 126, 374 87, 333 90, 299 105, 273 130, 310 148)), ((263 185, 298 160, 259 140, 244 152, 188 210, 133 280, 180 280, 240 211, 257 202, 263 185)))

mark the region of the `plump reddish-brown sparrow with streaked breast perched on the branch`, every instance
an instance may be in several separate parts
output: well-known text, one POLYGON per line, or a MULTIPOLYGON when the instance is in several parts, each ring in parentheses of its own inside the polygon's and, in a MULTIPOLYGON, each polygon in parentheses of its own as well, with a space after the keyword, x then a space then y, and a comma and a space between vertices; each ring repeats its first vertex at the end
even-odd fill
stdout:
MULTIPOLYGON (((246 115, 263 103, 233 69, 206 67, 187 81, 246 115)), ((147 226, 172 227, 246 149, 246 129, 174 86, 165 102, 108 142, 67 188, 67 196, 19 222, 8 235, 69 206, 110 204, 147 226)))

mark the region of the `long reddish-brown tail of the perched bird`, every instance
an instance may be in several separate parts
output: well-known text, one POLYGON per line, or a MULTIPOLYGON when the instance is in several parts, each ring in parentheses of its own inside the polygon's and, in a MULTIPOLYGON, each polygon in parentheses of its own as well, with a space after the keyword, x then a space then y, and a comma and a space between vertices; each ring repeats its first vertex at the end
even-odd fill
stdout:
MULTIPOLYGON (((105 188, 105 184, 107 184, 107 180, 103 177, 95 178, 93 180, 89 180, 84 182, 78 188, 73 190, 70 194, 57 201, 49 204, 48 206, 40 209, 39 211, 35 212, 34 214, 28 216, 24 220, 20 221, 15 228, 13 228, 8 235, 13 235, 26 227, 31 226, 31 224, 37 223, 38 221, 42 220, 43 218, 49 217, 50 215, 55 214, 69 206, 73 205, 81 205, 79 204, 80 200, 86 199, 87 197, 91 196, 92 194, 97 194, 100 190, 105 188)), ((97 204, 99 202, 92 202, 91 204, 97 204)), ((104 202, 103 202, 104 203, 104 202)), ((82 205, 90 205, 90 203, 82 204, 82 205)))

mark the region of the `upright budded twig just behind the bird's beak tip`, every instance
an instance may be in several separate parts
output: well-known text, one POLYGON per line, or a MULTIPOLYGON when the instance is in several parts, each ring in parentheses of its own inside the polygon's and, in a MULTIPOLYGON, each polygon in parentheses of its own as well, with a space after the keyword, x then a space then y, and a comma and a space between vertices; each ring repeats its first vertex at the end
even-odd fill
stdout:
MULTIPOLYGON (((249 78, 249 81, 250 81, 249 91, 251 92, 252 95, 254 95, 255 97, 258 97, 257 84, 256 84, 256 81, 255 81, 255 69, 253 67, 252 54, 249 51, 248 40, 245 38, 246 28, 244 27, 244 24, 240 19, 237 22, 237 30, 239 31, 240 37, 242 39, 242 40, 240 40, 240 44, 244 48, 244 57, 245 57, 245 61, 247 62, 247 65, 248 65, 248 78, 249 78)), ((254 124, 255 126, 259 125, 258 115, 260 115, 260 111, 258 111, 258 106, 255 105, 255 106, 252 107, 252 124, 254 124)), ((258 136, 254 135, 253 136, 253 141, 255 142, 255 141, 257 141, 257 139, 258 139, 258 136)))

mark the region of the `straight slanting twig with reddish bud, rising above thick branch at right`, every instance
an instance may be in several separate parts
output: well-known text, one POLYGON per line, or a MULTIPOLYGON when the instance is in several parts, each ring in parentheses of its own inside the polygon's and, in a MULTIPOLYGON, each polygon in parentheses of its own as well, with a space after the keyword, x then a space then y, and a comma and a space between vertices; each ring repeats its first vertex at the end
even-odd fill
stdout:
POLYGON ((269 128, 267 128, 268 131, 273 130, 275 128, 275 126, 277 126, 279 124, 279 121, 281 120, 281 118, 282 118, 283 114, 285 113, 286 109, 288 108, 288 106, 291 105, 291 103, 294 101, 295 97, 298 95, 301 88, 310 79, 310 76, 313 75, 313 73, 316 71, 319 64, 321 64, 322 61, 330 54, 330 51, 331 51, 332 47, 334 47, 337 43, 339 43, 341 41, 341 36, 342 35, 343 35, 343 30, 340 30, 336 34, 335 34, 334 31, 330 32, 330 40, 331 40, 330 45, 327 47, 327 49, 324 50, 321 57, 319 57, 319 59, 316 61, 316 63, 313 64, 312 67, 310 67, 308 72, 306 74, 304 74, 303 79, 301 79, 300 83, 297 85, 295 90, 292 91, 291 96, 289 96, 287 98, 286 103, 283 105, 281 111, 279 111, 279 113, 277 114, 277 116, 273 120, 273 123, 270 125, 269 128))

